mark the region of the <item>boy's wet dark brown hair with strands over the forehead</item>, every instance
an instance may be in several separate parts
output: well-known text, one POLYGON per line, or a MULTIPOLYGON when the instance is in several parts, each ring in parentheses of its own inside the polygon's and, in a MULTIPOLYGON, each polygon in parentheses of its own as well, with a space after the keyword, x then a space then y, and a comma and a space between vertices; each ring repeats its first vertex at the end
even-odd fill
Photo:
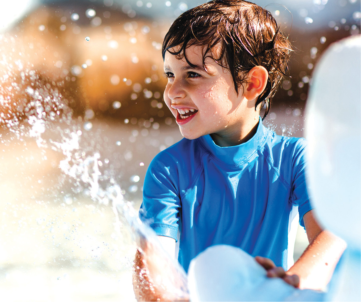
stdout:
POLYGON ((268 10, 243 0, 212 0, 187 10, 175 19, 165 35, 163 59, 168 51, 194 66, 185 55, 191 45, 203 46, 203 65, 210 57, 230 70, 237 94, 253 67, 265 67, 268 82, 257 98, 255 110, 262 103, 262 107, 265 106, 263 119, 266 117, 271 98, 286 75, 292 51, 291 43, 268 10), (211 50, 217 44, 221 45, 221 55, 214 58, 211 50))

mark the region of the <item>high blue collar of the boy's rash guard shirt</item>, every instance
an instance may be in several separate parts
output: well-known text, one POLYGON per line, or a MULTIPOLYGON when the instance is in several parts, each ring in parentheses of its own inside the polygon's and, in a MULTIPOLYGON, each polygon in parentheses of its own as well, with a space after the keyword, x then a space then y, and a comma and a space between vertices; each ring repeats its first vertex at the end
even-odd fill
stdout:
POLYGON ((260 118, 255 135, 247 142, 240 145, 219 147, 214 143, 209 134, 200 137, 200 140, 206 150, 214 155, 219 161, 223 161, 226 164, 240 164, 255 153, 258 146, 264 145, 266 137, 268 136, 267 130, 268 129, 262 124, 260 118))

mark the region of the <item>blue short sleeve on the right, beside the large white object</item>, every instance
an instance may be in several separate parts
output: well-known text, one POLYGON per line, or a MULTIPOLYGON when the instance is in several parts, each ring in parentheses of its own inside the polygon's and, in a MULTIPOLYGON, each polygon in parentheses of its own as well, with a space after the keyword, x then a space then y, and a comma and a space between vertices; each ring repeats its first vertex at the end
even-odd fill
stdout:
POLYGON ((306 184, 306 141, 297 140, 292 156, 292 203, 298 205, 300 225, 305 227, 303 216, 312 210, 306 184))

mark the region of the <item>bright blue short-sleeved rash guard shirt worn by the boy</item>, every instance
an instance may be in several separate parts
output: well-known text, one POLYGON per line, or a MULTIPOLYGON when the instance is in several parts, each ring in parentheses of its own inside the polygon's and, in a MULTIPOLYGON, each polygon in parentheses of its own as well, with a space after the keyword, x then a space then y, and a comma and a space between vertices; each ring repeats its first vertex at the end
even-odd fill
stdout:
POLYGON ((145 176, 139 217, 157 235, 179 241, 185 271, 215 244, 271 258, 287 269, 297 208, 304 226, 311 209, 305 141, 278 136, 260 120, 256 134, 238 146, 219 147, 206 135, 183 138, 160 152, 145 176))

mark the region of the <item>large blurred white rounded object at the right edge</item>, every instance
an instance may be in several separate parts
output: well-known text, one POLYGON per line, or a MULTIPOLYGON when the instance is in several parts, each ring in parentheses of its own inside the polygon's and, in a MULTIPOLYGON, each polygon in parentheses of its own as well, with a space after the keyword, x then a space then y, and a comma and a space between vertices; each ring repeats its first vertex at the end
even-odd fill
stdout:
POLYGON ((312 77, 305 112, 308 186, 322 224, 360 249, 361 37, 332 44, 312 77))

